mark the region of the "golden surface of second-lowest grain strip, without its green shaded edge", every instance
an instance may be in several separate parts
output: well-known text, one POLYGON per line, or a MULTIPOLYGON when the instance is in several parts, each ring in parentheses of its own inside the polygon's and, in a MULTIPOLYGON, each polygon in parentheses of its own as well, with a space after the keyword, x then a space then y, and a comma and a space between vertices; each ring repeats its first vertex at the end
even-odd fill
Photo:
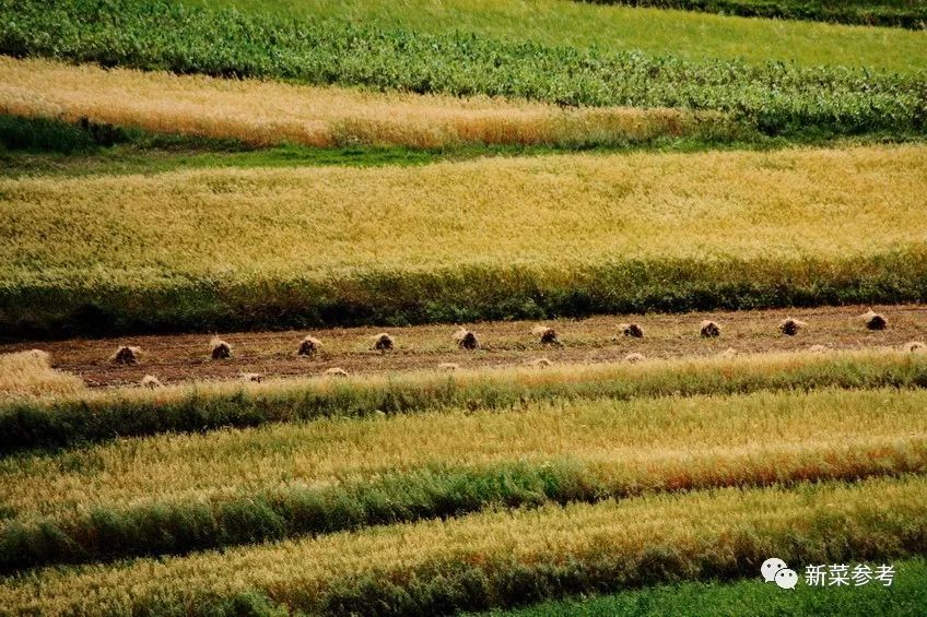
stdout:
MULTIPOLYGON (((524 370, 538 380, 555 372, 524 370)), ((162 435, 0 461, 0 507, 67 517, 94 505, 198 500, 429 465, 564 458, 590 465, 590 475, 605 484, 641 489, 852 477, 895 464, 916 471, 927 468, 925 406, 927 392, 889 390, 559 400, 516 411, 162 435)))

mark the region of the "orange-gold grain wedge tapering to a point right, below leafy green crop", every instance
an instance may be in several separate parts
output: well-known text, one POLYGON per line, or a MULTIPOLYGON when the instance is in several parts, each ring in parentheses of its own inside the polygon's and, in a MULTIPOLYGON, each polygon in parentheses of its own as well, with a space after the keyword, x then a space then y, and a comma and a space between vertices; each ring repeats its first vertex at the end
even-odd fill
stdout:
POLYGON ((12 58, 0 58, 0 110, 257 145, 608 144, 724 124, 717 114, 672 109, 564 110, 488 97, 379 94, 12 58))

